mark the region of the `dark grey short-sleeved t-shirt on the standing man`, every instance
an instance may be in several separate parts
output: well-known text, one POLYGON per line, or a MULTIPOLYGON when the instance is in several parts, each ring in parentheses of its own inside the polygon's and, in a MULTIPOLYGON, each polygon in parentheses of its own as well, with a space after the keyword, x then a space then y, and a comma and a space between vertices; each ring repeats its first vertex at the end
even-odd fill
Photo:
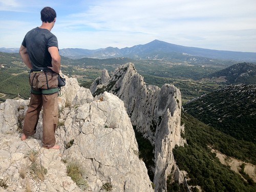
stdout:
POLYGON ((48 48, 58 48, 58 40, 54 34, 47 29, 34 28, 26 34, 22 45, 27 48, 32 71, 51 71, 47 68, 52 67, 52 57, 48 48))

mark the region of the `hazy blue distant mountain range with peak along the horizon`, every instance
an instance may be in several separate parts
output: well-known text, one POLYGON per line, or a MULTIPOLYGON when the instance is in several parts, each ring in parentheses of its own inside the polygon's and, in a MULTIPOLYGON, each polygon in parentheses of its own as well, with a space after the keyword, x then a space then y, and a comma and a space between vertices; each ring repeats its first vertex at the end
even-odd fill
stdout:
MULTIPOLYGON (((1 52, 18 52, 18 49, 0 48, 1 52)), ((235 52, 235 51, 218 51, 202 49, 195 47, 185 47, 168 42, 153 40, 145 45, 136 45, 131 48, 113 48, 105 49, 60 49, 60 55, 74 59, 90 58, 113 58, 127 57, 132 59, 164 59, 172 61, 197 61, 209 59, 233 60, 242 62, 256 62, 256 53, 253 52, 235 52)))

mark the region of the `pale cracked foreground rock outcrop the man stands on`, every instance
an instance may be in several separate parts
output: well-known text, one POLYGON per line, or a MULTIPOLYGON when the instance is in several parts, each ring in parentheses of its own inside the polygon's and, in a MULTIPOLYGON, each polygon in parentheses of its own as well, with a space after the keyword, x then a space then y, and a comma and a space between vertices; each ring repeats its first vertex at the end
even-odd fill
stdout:
POLYGON ((23 124, 28 100, 7 100, 0 105, 0 179, 8 187, 0 191, 153 191, 147 169, 138 157, 138 144, 123 101, 111 93, 93 97, 77 80, 67 79, 59 99, 60 150, 41 147, 42 114, 37 133, 20 140, 17 129, 23 124), (9 130, 9 131, 8 131, 9 130), (44 180, 30 172, 27 154, 38 153, 38 163, 47 169, 44 180), (83 170, 86 189, 67 176, 67 164, 76 162, 83 170), (26 176, 20 176, 25 168, 26 176))

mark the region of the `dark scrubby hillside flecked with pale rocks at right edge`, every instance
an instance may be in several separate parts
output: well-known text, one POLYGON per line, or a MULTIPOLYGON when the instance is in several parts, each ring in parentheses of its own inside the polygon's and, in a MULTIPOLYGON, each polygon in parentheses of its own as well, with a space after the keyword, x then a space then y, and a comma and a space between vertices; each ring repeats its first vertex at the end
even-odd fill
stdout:
POLYGON ((229 85, 191 100, 184 109, 223 133, 256 143, 256 85, 229 85))

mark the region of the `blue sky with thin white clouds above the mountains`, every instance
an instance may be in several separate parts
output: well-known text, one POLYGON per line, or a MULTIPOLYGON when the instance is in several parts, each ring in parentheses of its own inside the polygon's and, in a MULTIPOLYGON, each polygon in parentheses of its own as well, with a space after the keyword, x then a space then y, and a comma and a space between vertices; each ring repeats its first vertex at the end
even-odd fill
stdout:
POLYGON ((255 0, 0 0, 0 47, 19 48, 57 12, 59 49, 132 47, 158 39, 205 49, 256 52, 255 0))

